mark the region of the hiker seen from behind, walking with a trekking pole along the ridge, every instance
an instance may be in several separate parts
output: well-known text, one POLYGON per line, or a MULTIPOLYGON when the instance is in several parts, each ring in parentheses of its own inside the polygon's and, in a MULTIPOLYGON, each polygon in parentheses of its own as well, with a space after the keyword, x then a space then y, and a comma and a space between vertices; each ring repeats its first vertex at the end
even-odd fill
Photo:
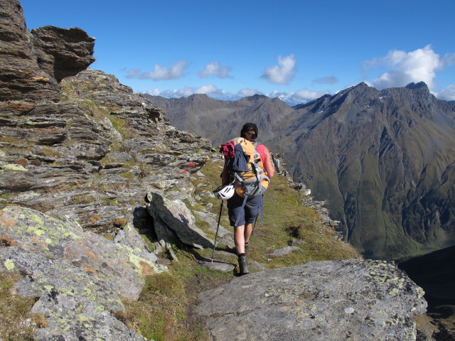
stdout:
MULTIPOLYGON (((240 138, 233 139, 232 141, 228 142, 228 144, 222 145, 222 149, 223 146, 227 146, 229 144, 231 145, 230 147, 231 155, 226 156, 225 153, 225 166, 223 168, 221 181, 222 185, 232 183, 232 181, 235 181, 235 193, 234 195, 232 195, 230 199, 228 199, 228 214, 230 225, 234 227, 234 242, 238 256, 240 275, 245 275, 249 273, 247 263, 247 251, 250 245, 250 236, 252 234, 253 224, 255 223, 257 216, 259 215, 259 212, 262 213, 263 206, 262 193, 268 186, 269 178, 272 178, 272 176, 275 173, 269 149, 263 144, 256 144, 255 143, 256 139, 257 139, 256 124, 247 123, 244 124, 242 130, 240 131, 240 138), (245 195, 245 188, 247 188, 248 186, 243 185, 243 181, 240 180, 239 176, 235 174, 236 172, 232 172, 232 163, 237 163, 237 158, 232 157, 233 156, 232 145, 235 146, 234 153, 238 151, 237 148, 238 146, 255 146, 255 151, 259 153, 260 160, 258 162, 259 165, 258 168, 260 172, 265 171, 265 173, 261 174, 262 180, 259 179, 259 184, 257 184, 256 178, 255 180, 252 180, 257 185, 261 185, 259 194, 252 193, 255 192, 256 189, 253 190, 247 189, 247 192, 249 193, 246 193, 247 195, 245 195), (234 179, 232 179, 232 176, 234 177, 234 179), (237 178, 238 180, 236 180, 235 178, 237 178)), ((249 162, 251 161, 252 158, 250 158, 249 162)), ((245 183, 247 183, 247 181, 245 183)))

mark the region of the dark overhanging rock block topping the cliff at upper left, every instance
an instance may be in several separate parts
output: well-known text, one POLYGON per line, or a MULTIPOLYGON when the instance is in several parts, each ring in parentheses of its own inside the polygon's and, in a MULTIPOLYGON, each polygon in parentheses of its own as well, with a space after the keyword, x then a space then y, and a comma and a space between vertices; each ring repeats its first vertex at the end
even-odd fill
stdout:
POLYGON ((31 33, 17 0, 0 6, 0 101, 58 101, 58 82, 95 61, 95 39, 80 28, 45 26, 31 33))

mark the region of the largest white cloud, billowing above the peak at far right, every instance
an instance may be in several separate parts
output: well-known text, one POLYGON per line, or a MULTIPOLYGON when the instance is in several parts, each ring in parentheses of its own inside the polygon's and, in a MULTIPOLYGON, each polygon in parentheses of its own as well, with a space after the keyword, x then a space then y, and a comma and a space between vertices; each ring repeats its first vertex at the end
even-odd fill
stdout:
MULTIPOLYGON (((363 63, 364 72, 377 67, 386 67, 372 83, 378 89, 403 87, 410 82, 425 82, 430 89, 435 87, 436 71, 455 63, 455 54, 441 58, 432 50, 431 45, 411 52, 390 50, 385 57, 374 58, 363 63)), ((366 74, 364 75, 366 78, 366 74)))

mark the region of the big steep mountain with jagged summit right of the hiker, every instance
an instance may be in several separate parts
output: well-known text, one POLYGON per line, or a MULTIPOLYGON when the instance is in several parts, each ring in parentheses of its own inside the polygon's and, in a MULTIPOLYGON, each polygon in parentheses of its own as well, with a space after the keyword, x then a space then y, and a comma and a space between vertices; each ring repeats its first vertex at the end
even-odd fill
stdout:
POLYGON ((294 176, 328 198, 363 254, 399 258, 455 243, 454 108, 424 83, 361 84, 302 108, 294 176), (320 121, 315 121, 319 111, 320 121))

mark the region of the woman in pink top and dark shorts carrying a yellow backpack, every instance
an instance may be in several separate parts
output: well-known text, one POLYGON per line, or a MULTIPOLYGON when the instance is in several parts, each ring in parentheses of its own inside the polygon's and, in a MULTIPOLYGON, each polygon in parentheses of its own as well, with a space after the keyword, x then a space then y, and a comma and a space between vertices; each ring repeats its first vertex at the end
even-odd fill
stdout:
POLYGON ((275 173, 269 149, 263 144, 255 143, 257 133, 256 124, 244 124, 240 131, 240 138, 233 139, 228 144, 223 144, 220 150, 225 154, 225 166, 221 175, 222 184, 234 183, 235 185, 235 194, 228 199, 228 215, 230 225, 234 227, 234 242, 238 256, 240 276, 249 273, 247 251, 250 244, 252 227, 257 215, 262 210, 262 193, 268 186, 269 178, 272 178, 275 173), (248 151, 251 151, 251 148, 256 152, 254 154, 255 156, 251 154, 252 157, 248 155, 248 151), (233 153, 232 149, 234 151, 233 153), (228 155, 226 153, 227 150, 230 151, 228 155), (237 153, 239 150, 242 153, 237 153), (239 160, 237 160, 237 156, 239 156, 239 160), (247 159, 247 164, 250 164, 250 168, 248 168, 250 171, 237 171, 242 168, 242 166, 239 166, 239 163, 245 162, 242 156, 247 159), (260 159, 258 156, 260 156, 260 159), (252 168, 256 168, 256 171, 252 168), (248 176, 250 176, 250 179, 252 178, 249 173, 253 173, 254 180, 248 180, 248 176), (258 173, 261 173, 260 177, 258 173), (254 183, 254 185, 250 185, 250 183, 254 183), (259 186, 259 190, 254 186, 259 186))

